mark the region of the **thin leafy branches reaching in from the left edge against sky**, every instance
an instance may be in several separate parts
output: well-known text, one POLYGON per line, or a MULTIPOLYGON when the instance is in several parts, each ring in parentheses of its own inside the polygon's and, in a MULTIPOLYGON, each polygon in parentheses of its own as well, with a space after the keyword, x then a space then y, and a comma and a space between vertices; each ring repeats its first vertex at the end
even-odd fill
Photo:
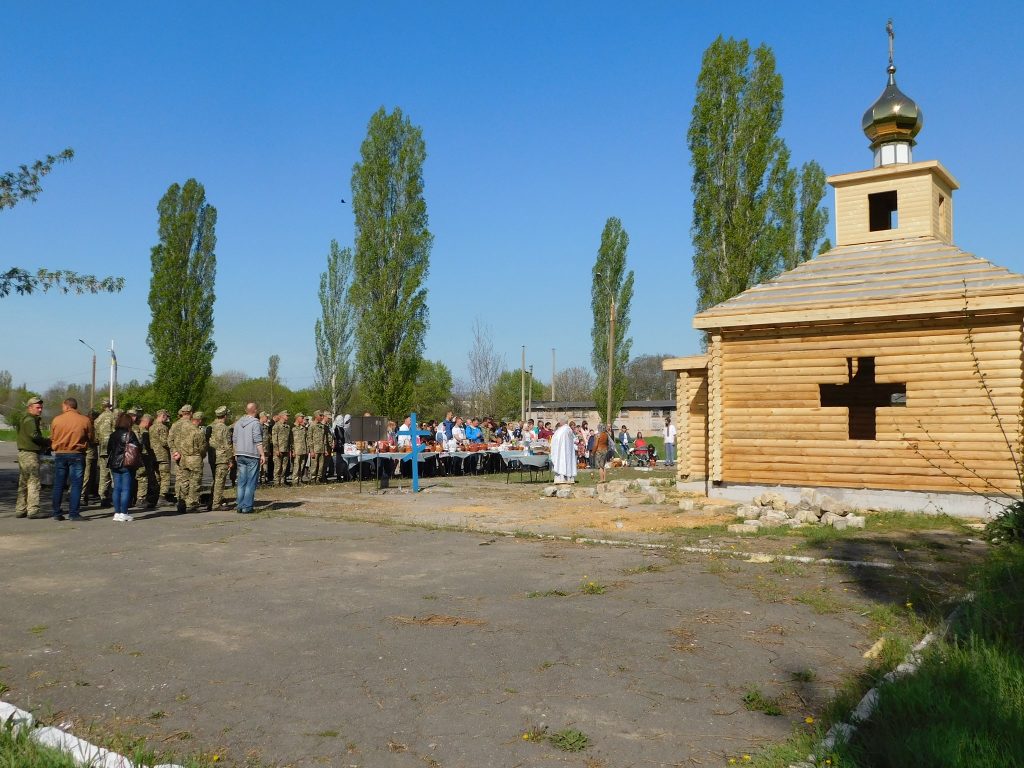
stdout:
MULTIPOLYGON (((37 160, 32 165, 20 166, 16 171, 0 174, 0 211, 13 208, 24 200, 35 203, 43 190, 43 176, 53 170, 57 163, 74 157, 75 151, 69 146, 57 155, 47 155, 45 160, 37 160)), ((37 269, 33 272, 15 266, 0 272, 0 298, 9 296, 11 291, 24 295, 36 291, 45 293, 51 288, 56 288, 61 293, 117 293, 124 285, 124 278, 97 278, 69 269, 37 269)))

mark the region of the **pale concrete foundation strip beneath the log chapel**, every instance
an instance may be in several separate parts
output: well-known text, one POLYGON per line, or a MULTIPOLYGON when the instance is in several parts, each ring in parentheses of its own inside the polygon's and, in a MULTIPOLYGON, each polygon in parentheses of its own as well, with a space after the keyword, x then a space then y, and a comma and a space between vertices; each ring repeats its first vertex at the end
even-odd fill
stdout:
MULTIPOLYGON (((683 493, 705 494, 710 499, 728 499, 750 503, 766 492, 781 494, 790 504, 800 502, 800 492, 795 485, 748 485, 740 483, 713 483, 707 480, 678 481, 676 488, 683 493)), ((951 515, 953 517, 994 517, 1002 511, 998 502, 1011 503, 1015 499, 986 498, 977 494, 936 494, 924 490, 880 490, 878 488, 815 487, 818 494, 846 502, 854 509, 878 512, 883 510, 919 512, 926 515, 951 515)))

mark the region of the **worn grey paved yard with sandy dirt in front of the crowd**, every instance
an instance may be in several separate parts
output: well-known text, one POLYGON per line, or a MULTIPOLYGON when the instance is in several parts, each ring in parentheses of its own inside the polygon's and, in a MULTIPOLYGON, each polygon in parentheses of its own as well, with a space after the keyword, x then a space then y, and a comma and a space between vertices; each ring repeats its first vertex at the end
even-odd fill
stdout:
POLYGON ((10 478, 0 445, 4 700, 227 765, 724 766, 807 727, 866 664, 872 611, 938 604, 980 551, 961 529, 740 541, 494 477, 55 523, 4 516, 10 478), (752 687, 782 714, 744 709, 752 687), (523 738, 563 729, 589 745, 523 738))

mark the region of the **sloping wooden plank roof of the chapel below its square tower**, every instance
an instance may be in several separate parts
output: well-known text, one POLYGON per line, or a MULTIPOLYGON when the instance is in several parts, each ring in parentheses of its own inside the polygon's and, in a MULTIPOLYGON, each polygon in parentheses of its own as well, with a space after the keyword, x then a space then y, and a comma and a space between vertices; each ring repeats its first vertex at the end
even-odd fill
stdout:
POLYGON ((935 238, 835 248, 693 318, 698 329, 1024 307, 1024 275, 935 238))

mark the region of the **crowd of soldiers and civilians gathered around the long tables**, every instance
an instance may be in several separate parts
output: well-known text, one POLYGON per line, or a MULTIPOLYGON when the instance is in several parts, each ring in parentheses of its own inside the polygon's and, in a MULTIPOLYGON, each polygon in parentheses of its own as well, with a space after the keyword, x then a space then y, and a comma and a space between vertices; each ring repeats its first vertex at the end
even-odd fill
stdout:
MULTIPOLYGON (((138 408, 117 411, 110 401, 104 401, 98 413, 86 416, 79 412, 77 400, 69 397, 52 420, 50 436, 45 437, 42 408, 42 399, 31 398, 18 429, 18 517, 66 519, 66 492, 68 516, 73 520, 82 519, 81 510, 90 503, 113 507, 114 520, 119 522, 131 521, 128 510, 135 506, 154 510, 169 503, 178 512, 198 511, 204 463, 209 464, 213 476, 206 509, 233 506, 248 514, 253 511, 258 483, 344 482, 353 479, 353 471, 361 471, 358 464, 353 470, 345 456, 408 451, 414 441, 433 443, 436 450, 453 454, 474 443, 527 452, 557 446, 559 458, 553 457, 553 464, 562 480, 586 467, 599 469, 603 480, 615 457, 650 464, 657 458, 641 432, 632 436, 625 425, 617 431, 603 425, 594 429, 586 421, 579 425, 552 425, 534 419, 505 422, 489 417, 467 419, 449 412, 440 421, 417 425, 415 435, 411 418, 400 425, 388 421, 382 433, 375 435, 379 439, 368 442, 355 439, 362 435, 353 433, 351 416, 326 411, 294 417, 282 411, 271 416, 250 402, 246 414, 232 422, 228 409, 221 406, 206 424, 203 412, 186 404, 178 409, 178 418, 172 423, 165 410, 156 415, 138 408), (556 434, 558 439, 554 440, 556 434), (39 499, 39 457, 44 453, 52 454, 54 470, 48 513, 40 511, 39 499), (224 492, 232 484, 236 498, 230 502, 224 492)), ((675 427, 671 419, 665 421, 666 464, 671 465, 675 427)))

